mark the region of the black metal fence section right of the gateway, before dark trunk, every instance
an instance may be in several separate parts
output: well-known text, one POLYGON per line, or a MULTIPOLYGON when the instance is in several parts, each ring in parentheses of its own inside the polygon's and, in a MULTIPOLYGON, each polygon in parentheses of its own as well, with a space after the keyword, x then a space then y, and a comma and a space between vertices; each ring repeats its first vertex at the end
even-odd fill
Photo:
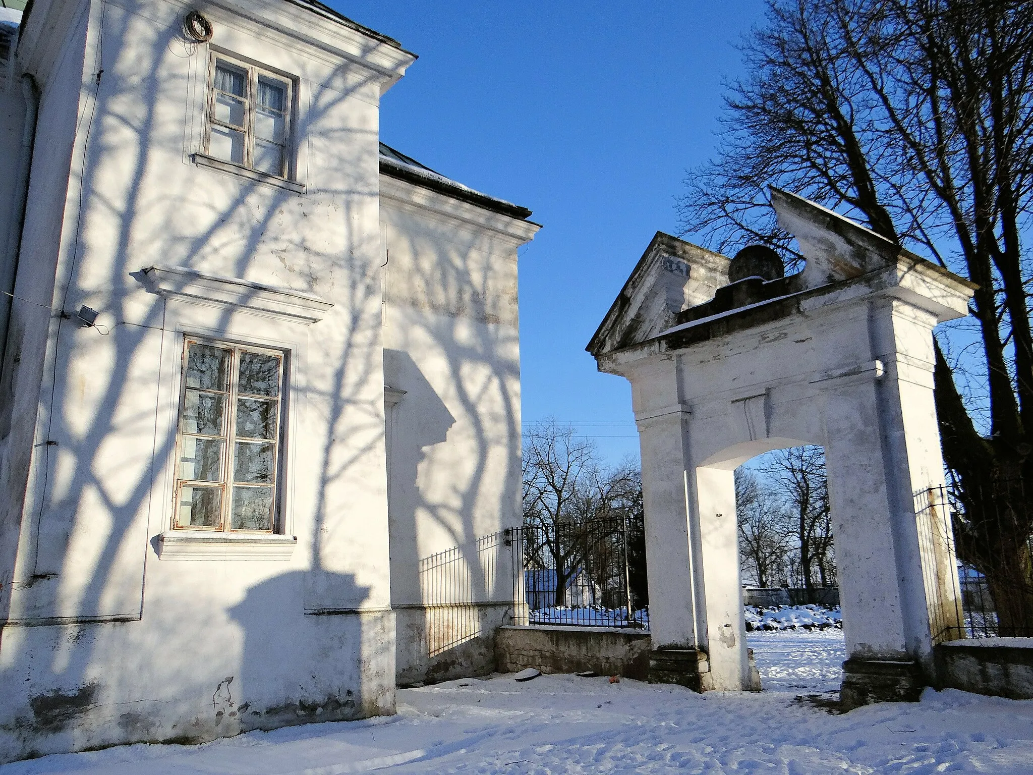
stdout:
POLYGON ((1033 637, 1033 503, 1023 482, 962 492, 938 487, 915 500, 934 642, 1033 637), (943 558, 952 550, 957 567, 943 558))

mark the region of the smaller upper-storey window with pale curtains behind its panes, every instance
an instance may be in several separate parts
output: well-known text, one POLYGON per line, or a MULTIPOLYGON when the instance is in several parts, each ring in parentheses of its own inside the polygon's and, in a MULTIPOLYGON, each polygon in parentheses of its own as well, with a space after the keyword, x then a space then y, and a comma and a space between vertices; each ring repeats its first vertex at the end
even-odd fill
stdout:
POLYGON ((208 106, 209 156, 290 177, 291 83, 215 55, 208 106))

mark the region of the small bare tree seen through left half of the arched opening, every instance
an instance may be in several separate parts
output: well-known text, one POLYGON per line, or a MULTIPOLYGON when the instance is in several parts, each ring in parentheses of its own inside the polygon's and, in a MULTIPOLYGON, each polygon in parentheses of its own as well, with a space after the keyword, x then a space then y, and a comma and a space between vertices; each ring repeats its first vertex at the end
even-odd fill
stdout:
POLYGON ((754 471, 735 470, 735 515, 739 551, 745 574, 759 587, 771 587, 783 578, 792 551, 786 531, 787 514, 754 471))

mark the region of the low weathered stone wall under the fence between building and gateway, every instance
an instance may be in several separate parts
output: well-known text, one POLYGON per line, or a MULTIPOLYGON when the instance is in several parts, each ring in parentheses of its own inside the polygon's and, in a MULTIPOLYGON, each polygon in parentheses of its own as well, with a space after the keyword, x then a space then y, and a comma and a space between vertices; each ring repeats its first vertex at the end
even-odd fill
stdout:
POLYGON ((649 632, 603 627, 499 627, 495 661, 500 673, 535 668, 542 673, 595 671, 645 681, 649 675, 649 632))

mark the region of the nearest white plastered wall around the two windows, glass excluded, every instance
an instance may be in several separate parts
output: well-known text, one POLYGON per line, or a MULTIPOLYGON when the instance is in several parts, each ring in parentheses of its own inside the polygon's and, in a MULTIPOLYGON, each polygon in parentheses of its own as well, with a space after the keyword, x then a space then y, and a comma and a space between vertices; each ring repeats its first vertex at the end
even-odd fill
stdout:
MULTIPOLYGON (((37 2, 29 25, 50 8, 37 2)), ((14 421, 5 475, 17 477, 27 448, 32 469, 24 514, 6 504, 21 537, 0 651, 0 761, 394 710, 377 109, 411 57, 281 2, 213 6, 211 45, 187 43, 182 11, 89 4, 89 25, 65 47, 86 39, 86 66, 68 57, 43 87, 38 163, 55 168, 33 171, 30 208, 51 222, 34 221, 38 272, 26 270, 19 295, 51 303, 56 256, 55 309, 100 315, 92 328, 53 319, 41 389, 31 390, 39 365, 34 376, 23 360, 19 372, 18 406, 32 409, 14 421), (217 49, 295 79, 304 188, 194 163, 217 49), (76 122, 75 100, 55 97, 80 91, 76 122), (61 132, 76 126, 62 188, 61 132), (155 292, 142 273, 152 266, 229 280, 155 292), (280 303, 291 291, 333 306, 300 320, 280 303), (285 353, 278 549, 226 538, 166 552, 188 334, 285 353)))

